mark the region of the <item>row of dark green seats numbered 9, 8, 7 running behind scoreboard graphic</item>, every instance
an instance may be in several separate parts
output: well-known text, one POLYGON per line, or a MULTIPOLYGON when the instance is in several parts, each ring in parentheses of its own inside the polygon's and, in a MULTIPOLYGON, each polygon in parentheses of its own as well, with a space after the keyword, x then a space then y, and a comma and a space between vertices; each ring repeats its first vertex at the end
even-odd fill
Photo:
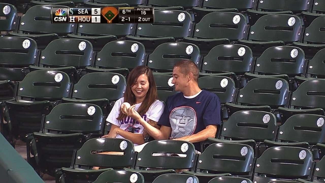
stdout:
MULTIPOLYGON (((2 4, 3 7, 5 5, 2 4)), ((240 44, 267 48, 292 42, 307 48, 311 46, 310 43, 325 43, 321 39, 324 37, 321 31, 324 16, 314 18, 315 20, 306 27, 304 33, 301 18, 290 14, 266 14, 251 27, 247 24, 246 16, 238 12, 211 12, 206 14, 200 22, 193 23, 191 15, 182 10, 155 10, 154 24, 51 24, 51 7, 51 5, 31 7, 21 17, 20 23, 11 22, 19 24, 19 29, 17 33, 10 33, 10 35, 34 38, 39 49, 44 49, 50 41, 59 36, 82 38, 92 42, 95 50, 100 50, 111 40, 125 37, 128 40, 143 43, 147 53, 151 53, 161 43, 181 39, 197 44, 202 55, 207 54, 220 42, 228 40, 240 40, 240 44), (185 18, 178 18, 179 16, 185 18), (259 43, 256 41, 275 42, 259 43), (306 43, 309 44, 306 45, 306 43)), ((11 19, 8 18, 8 20, 11 19)), ((312 45, 314 49, 319 47, 312 45)))

